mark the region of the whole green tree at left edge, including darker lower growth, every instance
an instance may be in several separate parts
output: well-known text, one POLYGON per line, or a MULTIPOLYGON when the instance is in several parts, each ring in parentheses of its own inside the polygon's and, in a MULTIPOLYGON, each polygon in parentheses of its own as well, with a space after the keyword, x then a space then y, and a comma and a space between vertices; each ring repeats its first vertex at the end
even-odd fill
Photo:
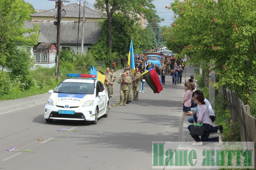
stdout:
MULTIPOLYGON (((25 59, 31 54, 26 52, 27 49, 24 51, 21 48, 37 44, 38 27, 24 28, 25 20, 30 20, 29 15, 34 11, 32 5, 25 3, 24 0, 0 1, 0 67, 10 70, 16 76, 23 77, 20 79, 21 81, 25 81, 27 77, 26 69, 30 69, 30 67, 27 67, 30 63, 24 64, 24 62, 31 62, 31 60, 25 59), (20 65, 20 69, 25 70, 17 71, 16 66, 18 65, 20 65)), ((0 79, 2 79, 1 76, 2 70, 0 79)))

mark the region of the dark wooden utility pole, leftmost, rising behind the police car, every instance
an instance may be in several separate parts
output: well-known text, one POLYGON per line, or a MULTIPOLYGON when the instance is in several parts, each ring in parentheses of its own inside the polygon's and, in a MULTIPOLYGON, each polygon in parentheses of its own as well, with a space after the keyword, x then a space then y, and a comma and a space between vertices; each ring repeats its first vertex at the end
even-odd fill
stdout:
POLYGON ((60 67, 60 23, 61 23, 61 3, 62 2, 70 2, 65 0, 51 0, 58 1, 58 12, 57 12, 57 24, 54 21, 54 25, 57 25, 57 64, 56 64, 56 80, 58 80, 59 76, 59 67, 60 67))

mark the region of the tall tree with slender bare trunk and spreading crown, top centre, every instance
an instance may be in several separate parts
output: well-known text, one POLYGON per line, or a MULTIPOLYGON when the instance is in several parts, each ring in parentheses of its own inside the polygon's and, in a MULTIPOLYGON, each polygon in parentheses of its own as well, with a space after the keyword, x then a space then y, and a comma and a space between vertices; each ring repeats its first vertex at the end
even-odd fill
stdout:
POLYGON ((116 12, 131 17, 138 18, 137 14, 144 16, 148 21, 159 21, 160 18, 155 14, 155 6, 152 4, 153 0, 98 0, 96 3, 97 8, 107 12, 107 46, 112 48, 112 17, 116 12))

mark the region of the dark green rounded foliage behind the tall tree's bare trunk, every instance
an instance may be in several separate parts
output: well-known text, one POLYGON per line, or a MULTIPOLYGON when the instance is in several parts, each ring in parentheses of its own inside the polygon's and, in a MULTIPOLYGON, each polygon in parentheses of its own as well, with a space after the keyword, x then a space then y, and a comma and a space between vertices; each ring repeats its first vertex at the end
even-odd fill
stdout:
MULTIPOLYGON (((134 51, 141 51, 143 49, 151 49, 153 47, 151 31, 148 28, 143 29, 140 23, 135 19, 122 15, 121 13, 114 14, 112 18, 113 30, 112 30, 112 52, 116 53, 119 58, 125 56, 130 49, 131 39, 133 38, 134 51)), ((105 60, 100 59, 101 55, 105 55, 108 51, 107 48, 107 34, 108 34, 108 22, 103 20, 100 23, 102 30, 102 38, 99 40, 92 51, 92 54, 96 56, 98 61, 105 60)))

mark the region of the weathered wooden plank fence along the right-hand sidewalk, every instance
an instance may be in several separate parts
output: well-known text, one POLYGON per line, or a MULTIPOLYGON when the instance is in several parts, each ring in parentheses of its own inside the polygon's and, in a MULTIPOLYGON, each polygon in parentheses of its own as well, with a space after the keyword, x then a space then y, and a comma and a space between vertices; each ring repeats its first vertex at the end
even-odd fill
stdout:
MULTIPOLYGON (((226 89, 225 92, 221 93, 226 94, 232 122, 237 122, 240 125, 241 141, 254 142, 254 151, 256 151, 256 119, 250 114, 250 106, 244 105, 234 91, 226 89)), ((236 125, 234 126, 236 129, 236 125)), ((255 163, 256 154, 254 152, 254 165, 255 163)))

